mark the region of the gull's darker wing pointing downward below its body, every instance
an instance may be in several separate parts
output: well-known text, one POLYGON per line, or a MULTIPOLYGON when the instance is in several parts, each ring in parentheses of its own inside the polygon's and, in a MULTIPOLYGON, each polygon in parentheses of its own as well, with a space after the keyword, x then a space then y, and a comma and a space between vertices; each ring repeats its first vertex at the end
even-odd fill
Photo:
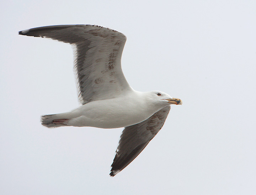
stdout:
POLYGON ((140 154, 162 128, 170 109, 171 106, 166 106, 145 121, 124 128, 111 165, 110 176, 122 171, 140 154))

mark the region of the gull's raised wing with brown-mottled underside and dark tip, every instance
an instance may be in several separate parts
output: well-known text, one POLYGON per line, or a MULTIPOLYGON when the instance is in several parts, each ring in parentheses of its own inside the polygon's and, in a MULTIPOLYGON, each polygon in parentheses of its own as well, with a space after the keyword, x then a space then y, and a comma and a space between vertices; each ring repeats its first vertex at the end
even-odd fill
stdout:
POLYGON ((32 28, 19 34, 50 38, 72 45, 78 99, 81 104, 115 98, 131 90, 121 68, 126 36, 95 25, 59 25, 32 28))

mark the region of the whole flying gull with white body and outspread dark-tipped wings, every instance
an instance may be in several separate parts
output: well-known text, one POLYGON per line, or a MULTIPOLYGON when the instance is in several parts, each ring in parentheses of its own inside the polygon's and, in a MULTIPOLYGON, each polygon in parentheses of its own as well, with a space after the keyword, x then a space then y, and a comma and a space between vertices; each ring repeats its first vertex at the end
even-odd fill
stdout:
POLYGON ((126 36, 96 25, 58 25, 31 28, 19 34, 50 38, 73 48, 80 106, 70 112, 43 115, 48 128, 74 126, 124 127, 110 176, 122 171, 164 125, 170 105, 182 101, 161 91, 139 92, 127 83, 121 68, 126 36))

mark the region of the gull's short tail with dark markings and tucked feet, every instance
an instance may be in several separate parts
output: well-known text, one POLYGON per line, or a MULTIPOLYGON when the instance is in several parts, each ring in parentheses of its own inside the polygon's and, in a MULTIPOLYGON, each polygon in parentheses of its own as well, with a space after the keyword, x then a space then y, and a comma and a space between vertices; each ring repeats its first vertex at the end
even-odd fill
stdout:
POLYGON ((55 115, 43 115, 41 116, 41 123, 44 127, 54 128, 54 127, 64 127, 69 126, 67 124, 67 118, 60 118, 62 114, 55 115))

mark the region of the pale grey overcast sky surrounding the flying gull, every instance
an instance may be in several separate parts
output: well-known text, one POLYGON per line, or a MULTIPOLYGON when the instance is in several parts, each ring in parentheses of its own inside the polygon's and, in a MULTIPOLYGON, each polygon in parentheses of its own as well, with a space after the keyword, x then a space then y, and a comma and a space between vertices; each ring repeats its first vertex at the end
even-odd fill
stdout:
POLYGON ((255 194, 256 1, 1 1, 0 194, 255 194), (18 31, 97 24, 127 36, 138 91, 183 101, 110 177, 122 128, 47 129, 77 107, 73 52, 18 31))

